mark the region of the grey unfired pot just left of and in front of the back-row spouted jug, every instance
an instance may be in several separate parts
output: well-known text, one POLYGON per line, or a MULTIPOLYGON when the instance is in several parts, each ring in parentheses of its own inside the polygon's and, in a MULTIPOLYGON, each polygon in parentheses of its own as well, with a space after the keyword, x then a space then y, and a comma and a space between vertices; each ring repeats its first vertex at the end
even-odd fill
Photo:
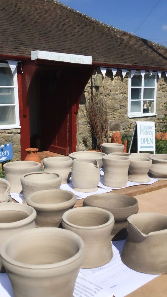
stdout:
POLYGON ((21 177, 23 203, 26 204, 26 198, 36 191, 60 189, 61 182, 61 176, 56 173, 41 171, 24 174, 21 177))

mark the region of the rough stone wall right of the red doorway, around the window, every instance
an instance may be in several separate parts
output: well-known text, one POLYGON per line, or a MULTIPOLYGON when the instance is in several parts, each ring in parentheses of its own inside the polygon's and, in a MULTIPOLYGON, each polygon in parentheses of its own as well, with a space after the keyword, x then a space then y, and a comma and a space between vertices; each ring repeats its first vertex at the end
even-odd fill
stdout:
MULTIPOLYGON (((101 74, 101 72, 98 72, 101 74)), ((103 76, 102 76, 103 77, 103 76)), ((128 118, 128 78, 129 74, 123 79, 121 70, 116 72, 113 79, 111 71, 107 70, 105 78, 103 78, 102 86, 99 88, 100 93, 103 93, 107 100, 108 108, 108 129, 109 135, 113 132, 120 132, 121 135, 132 135, 134 124, 136 121, 155 121, 155 132, 160 132, 166 125, 164 120, 167 115, 167 79, 164 72, 162 78, 157 81, 157 102, 156 113, 157 116, 146 116, 137 118, 128 118)), ((94 75, 92 76, 94 89, 94 75)), ((97 87, 96 87, 97 88, 97 87)), ((81 100, 78 111, 78 126, 77 126, 77 150, 92 149, 92 139, 89 127, 86 122, 85 101, 88 100, 88 89, 91 89, 91 79, 89 80, 81 100)))

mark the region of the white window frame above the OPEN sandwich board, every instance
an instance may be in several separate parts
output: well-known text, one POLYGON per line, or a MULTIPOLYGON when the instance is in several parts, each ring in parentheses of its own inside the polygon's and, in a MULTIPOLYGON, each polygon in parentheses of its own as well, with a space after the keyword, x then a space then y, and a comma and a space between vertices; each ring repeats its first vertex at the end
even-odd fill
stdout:
MULTIPOLYGON (((147 72, 145 72, 145 74, 147 74, 147 72)), ((148 72, 149 74, 149 72, 148 72)), ((141 75, 141 72, 135 72, 134 75, 141 75)), ((145 88, 151 88, 153 89, 153 87, 144 87, 144 77, 141 75, 142 77, 142 82, 141 82, 141 87, 137 87, 137 88, 141 88, 141 111, 140 112, 130 112, 130 106, 131 106, 131 88, 133 88, 131 86, 132 83, 132 78, 131 78, 131 71, 129 71, 129 81, 128 81, 128 117, 129 118, 137 118, 137 117, 148 117, 148 116, 157 116, 156 114, 156 97, 157 97, 157 72, 153 72, 152 75, 155 75, 155 92, 154 92, 154 112, 153 113, 143 113, 143 101, 146 101, 143 99, 143 94, 144 94, 144 89, 145 88)), ((134 87, 136 88, 136 87, 134 87)))

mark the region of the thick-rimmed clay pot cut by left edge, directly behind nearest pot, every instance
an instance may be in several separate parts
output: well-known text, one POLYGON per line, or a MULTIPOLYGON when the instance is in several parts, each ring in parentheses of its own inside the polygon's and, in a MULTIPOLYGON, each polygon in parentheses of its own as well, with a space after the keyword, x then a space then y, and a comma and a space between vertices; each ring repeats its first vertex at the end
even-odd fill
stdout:
MULTIPOLYGON (((12 235, 22 230, 35 228, 36 211, 19 203, 1 203, 0 207, 0 246, 12 235)), ((0 272, 5 272, 0 260, 0 272)))

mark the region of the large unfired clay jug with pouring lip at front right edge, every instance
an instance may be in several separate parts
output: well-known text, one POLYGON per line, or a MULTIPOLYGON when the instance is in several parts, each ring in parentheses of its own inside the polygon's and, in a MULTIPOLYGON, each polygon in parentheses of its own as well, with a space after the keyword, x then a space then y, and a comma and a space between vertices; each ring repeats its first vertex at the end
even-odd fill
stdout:
POLYGON ((125 265, 148 274, 167 273, 167 216, 133 214, 121 259, 125 265))

